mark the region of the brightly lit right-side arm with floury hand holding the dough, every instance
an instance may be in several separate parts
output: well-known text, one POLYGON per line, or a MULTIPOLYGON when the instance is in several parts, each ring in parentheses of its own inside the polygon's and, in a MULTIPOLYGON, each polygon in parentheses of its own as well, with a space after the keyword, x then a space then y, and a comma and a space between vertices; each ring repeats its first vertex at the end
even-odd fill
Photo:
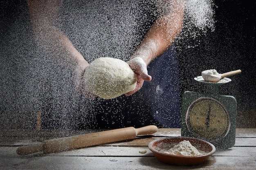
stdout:
POLYGON ((162 6, 169 6, 171 10, 163 11, 159 18, 153 23, 128 64, 137 75, 137 85, 135 89, 126 96, 138 91, 144 81, 150 81, 147 66, 157 56, 166 51, 175 41, 175 38, 182 30, 184 17, 184 0, 165 0, 162 6))

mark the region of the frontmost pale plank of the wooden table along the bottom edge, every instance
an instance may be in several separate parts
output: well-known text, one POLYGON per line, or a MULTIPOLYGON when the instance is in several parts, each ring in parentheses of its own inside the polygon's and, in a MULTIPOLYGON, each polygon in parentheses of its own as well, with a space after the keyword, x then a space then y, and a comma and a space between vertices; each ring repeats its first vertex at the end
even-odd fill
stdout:
POLYGON ((5 170, 255 170, 255 159, 210 157, 197 166, 172 166, 155 157, 3 157, 0 166, 5 170))

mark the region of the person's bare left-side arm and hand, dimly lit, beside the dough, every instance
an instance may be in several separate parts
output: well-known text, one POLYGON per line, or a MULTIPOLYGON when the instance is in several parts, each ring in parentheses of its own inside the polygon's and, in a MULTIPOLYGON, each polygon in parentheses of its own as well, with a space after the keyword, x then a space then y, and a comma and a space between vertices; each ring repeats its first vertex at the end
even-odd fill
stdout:
POLYGON ((71 71, 75 90, 93 98, 83 90, 83 73, 89 65, 77 51, 67 36, 54 22, 58 15, 61 0, 28 0, 29 15, 36 41, 51 57, 65 64, 71 71))

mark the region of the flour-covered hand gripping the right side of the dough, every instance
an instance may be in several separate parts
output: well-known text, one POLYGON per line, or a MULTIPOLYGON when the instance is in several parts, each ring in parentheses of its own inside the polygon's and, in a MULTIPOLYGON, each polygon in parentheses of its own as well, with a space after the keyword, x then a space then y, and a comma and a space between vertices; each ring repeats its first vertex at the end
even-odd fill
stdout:
POLYGON ((124 94, 126 96, 130 96, 135 92, 137 92, 139 89, 141 89, 144 81, 150 81, 152 77, 148 75, 146 63, 141 57, 132 58, 127 63, 129 64, 130 68, 132 68, 132 70, 135 72, 137 76, 137 84, 135 86, 135 89, 133 91, 130 91, 124 94))

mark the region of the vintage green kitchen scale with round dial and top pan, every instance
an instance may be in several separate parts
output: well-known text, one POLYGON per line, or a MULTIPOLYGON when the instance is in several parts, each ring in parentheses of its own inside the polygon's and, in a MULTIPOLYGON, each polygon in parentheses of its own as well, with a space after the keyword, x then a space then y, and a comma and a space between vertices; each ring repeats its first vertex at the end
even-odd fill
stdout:
POLYGON ((181 135, 211 142, 216 148, 235 145, 237 102, 235 97, 218 94, 218 87, 231 82, 225 77, 219 82, 205 82, 202 76, 194 78, 206 86, 206 92, 186 91, 182 95, 181 135))

